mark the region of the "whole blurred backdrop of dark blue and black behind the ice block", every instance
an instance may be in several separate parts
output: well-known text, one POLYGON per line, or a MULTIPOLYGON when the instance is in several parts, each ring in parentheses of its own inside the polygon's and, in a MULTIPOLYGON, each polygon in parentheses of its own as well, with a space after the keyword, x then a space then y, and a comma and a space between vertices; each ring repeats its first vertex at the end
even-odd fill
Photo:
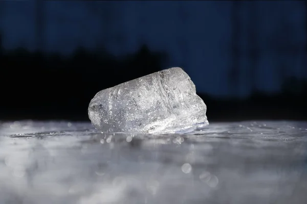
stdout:
POLYGON ((0 1, 0 119, 88 120, 105 88, 179 66, 209 121, 307 120, 306 1, 0 1))

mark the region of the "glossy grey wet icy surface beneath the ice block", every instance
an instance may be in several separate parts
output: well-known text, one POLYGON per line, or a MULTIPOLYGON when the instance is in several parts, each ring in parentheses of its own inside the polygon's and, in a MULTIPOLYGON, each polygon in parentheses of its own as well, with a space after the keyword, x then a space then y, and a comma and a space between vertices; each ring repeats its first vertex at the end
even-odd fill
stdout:
POLYGON ((90 123, 1 123, 0 203, 305 203, 306 129, 102 135, 90 123))

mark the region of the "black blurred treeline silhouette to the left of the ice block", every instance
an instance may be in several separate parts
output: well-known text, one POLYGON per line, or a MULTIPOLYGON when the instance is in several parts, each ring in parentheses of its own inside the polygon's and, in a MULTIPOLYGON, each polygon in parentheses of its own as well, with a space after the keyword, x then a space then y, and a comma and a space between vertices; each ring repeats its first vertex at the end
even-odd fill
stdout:
POLYGON ((165 53, 152 52, 146 45, 120 57, 103 57, 82 47, 69 57, 7 50, 0 119, 86 120, 87 106, 98 91, 159 71, 166 59, 165 53))

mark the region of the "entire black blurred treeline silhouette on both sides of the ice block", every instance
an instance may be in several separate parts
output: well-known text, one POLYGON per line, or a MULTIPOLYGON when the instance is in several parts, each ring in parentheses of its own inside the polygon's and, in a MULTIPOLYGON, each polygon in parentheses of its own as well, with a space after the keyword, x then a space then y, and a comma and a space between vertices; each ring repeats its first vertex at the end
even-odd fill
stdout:
MULTIPOLYGON (((115 57, 79 47, 70 57, 37 53, 24 48, 6 50, 2 62, 0 119, 87 120, 87 106, 100 90, 159 71, 167 60, 146 45, 130 55, 115 57)), ((307 83, 287 79, 281 94, 253 94, 248 99, 200 96, 210 121, 245 119, 307 119, 307 83), (305 95, 305 96, 304 96, 305 95), (242 106, 244 105, 244 106, 242 106)))

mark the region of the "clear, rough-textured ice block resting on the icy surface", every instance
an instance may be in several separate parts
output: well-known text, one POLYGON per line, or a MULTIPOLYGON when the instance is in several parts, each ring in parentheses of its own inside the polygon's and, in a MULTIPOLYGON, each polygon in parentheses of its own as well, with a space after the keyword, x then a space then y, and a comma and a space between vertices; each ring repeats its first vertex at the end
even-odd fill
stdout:
POLYGON ((175 133, 209 124, 206 110, 188 74, 174 67, 99 91, 89 118, 102 132, 175 133))

